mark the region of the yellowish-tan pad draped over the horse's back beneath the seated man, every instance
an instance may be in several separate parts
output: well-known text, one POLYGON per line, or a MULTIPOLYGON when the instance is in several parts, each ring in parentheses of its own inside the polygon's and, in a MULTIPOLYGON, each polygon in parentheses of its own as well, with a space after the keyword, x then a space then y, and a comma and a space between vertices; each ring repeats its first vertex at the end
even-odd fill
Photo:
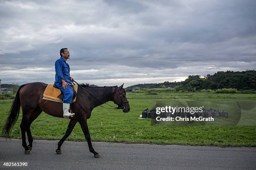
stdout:
MULTIPOLYGON (((74 85, 74 90, 77 92, 78 85, 74 85)), ((54 102, 63 102, 58 96, 61 94, 61 90, 54 88, 53 85, 47 85, 46 89, 44 90, 44 100, 51 100, 54 102)), ((75 102, 77 97, 75 97, 72 102, 75 102)))

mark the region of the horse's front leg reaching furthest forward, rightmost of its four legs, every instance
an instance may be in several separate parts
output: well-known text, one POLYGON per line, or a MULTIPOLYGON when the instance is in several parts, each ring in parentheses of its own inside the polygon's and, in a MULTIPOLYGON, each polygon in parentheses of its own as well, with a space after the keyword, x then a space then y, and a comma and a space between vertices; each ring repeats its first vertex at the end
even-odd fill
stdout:
POLYGON ((89 150, 91 153, 94 154, 94 157, 95 158, 100 158, 100 154, 98 154, 93 148, 92 148, 92 141, 91 141, 91 137, 90 137, 90 133, 89 133, 89 129, 88 129, 88 126, 87 126, 87 120, 80 120, 79 121, 79 124, 83 130, 83 133, 84 133, 84 137, 85 139, 87 140, 87 143, 88 143, 88 147, 89 147, 89 150))

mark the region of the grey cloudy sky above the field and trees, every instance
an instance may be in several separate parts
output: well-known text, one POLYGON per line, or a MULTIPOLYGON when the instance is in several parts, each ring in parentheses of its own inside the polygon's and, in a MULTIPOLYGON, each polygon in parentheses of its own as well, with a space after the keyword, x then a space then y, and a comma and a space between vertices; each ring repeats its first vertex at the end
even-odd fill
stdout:
POLYGON ((2 83, 53 83, 59 50, 80 83, 256 70, 255 0, 0 0, 2 83))

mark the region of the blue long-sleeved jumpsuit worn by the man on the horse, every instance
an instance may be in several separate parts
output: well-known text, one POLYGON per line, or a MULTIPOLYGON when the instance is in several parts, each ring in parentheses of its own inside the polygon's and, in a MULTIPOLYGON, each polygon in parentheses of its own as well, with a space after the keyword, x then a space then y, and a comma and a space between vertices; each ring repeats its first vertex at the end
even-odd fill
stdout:
POLYGON ((74 95, 73 88, 71 80, 70 80, 70 74, 69 74, 70 68, 68 63, 60 57, 55 62, 55 84, 61 89, 61 91, 64 94, 63 102, 64 103, 71 103, 72 98, 74 95), (62 87, 61 79, 65 80, 67 82, 68 86, 66 89, 62 87))

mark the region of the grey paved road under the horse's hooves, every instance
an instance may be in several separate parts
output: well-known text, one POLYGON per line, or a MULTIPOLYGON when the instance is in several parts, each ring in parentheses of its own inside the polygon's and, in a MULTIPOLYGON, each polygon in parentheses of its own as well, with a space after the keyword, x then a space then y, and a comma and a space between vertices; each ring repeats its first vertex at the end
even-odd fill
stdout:
MULTIPOLYGON (((34 140, 25 155, 21 140, 0 138, 0 169, 4 162, 27 162, 32 170, 255 170, 256 148, 220 148, 94 142, 101 158, 86 142, 65 141, 57 155, 56 140, 34 140)), ((8 167, 6 169, 16 169, 8 167)))

